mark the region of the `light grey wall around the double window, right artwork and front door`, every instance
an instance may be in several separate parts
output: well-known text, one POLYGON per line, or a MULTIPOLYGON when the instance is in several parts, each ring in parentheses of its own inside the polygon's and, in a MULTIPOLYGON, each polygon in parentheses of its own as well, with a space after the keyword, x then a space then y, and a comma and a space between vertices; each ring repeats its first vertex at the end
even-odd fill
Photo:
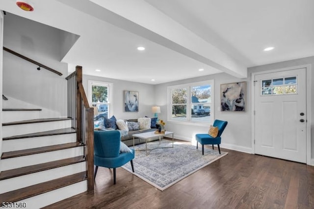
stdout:
MULTIPOLYGON (((167 115, 167 86, 177 85, 183 83, 192 83, 197 81, 214 79, 214 117, 215 119, 228 121, 227 128, 222 135, 221 147, 234 149, 242 152, 250 153, 252 150, 252 91, 251 91, 251 76, 252 73, 262 72, 267 70, 275 70, 292 66, 299 66, 311 64, 314 67, 314 57, 301 58, 296 60, 290 60, 286 62, 279 62, 274 64, 268 64, 263 66, 257 66, 248 68, 248 78, 239 79, 230 76, 225 73, 215 74, 210 76, 198 77, 185 79, 175 82, 163 83, 156 85, 156 92, 164 92, 164 94, 156 94, 157 105, 161 106, 161 113, 159 118, 166 119, 167 115), (245 112, 221 112, 220 111, 220 84, 247 81, 247 97, 246 97, 246 111, 245 112)), ((312 73, 311 83, 314 81, 314 73, 312 73)), ((314 104, 314 85, 311 85, 312 92, 312 104, 314 104)), ((310 116, 314 121, 314 111, 310 116)), ((311 125, 312 130, 313 125, 311 125)), ((193 141, 195 140, 196 133, 208 132, 209 127, 193 126, 193 125, 178 125, 178 124, 167 124, 167 129, 175 132, 175 137, 183 140, 193 141)), ((312 135, 312 156, 314 156, 314 136, 312 135)), ((312 157, 313 158, 313 157, 312 157)))

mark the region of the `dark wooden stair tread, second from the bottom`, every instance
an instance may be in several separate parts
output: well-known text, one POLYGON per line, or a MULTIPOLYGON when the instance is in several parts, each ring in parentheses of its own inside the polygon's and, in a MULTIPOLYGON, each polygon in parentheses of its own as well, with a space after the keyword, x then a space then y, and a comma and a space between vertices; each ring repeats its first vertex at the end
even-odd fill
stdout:
POLYGON ((52 168, 58 168, 61 166, 71 165, 71 164, 75 164, 75 163, 83 162, 83 161, 85 161, 83 156, 78 156, 78 157, 55 160, 55 161, 46 162, 46 163, 40 163, 36 165, 30 165, 30 166, 26 166, 22 168, 1 171, 0 180, 10 179, 10 178, 23 176, 23 175, 27 175, 31 173, 36 173, 40 171, 45 171, 52 168))

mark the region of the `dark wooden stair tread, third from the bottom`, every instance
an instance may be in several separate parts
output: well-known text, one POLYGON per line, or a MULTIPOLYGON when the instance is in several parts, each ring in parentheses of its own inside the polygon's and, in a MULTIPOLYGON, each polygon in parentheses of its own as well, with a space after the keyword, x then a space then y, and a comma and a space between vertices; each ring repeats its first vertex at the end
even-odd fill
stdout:
POLYGON ((56 151, 56 150, 63 150, 63 149, 68 149, 68 148, 73 148, 73 147, 78 147, 78 146, 82 146, 82 144, 80 144, 79 142, 71 142, 71 143, 57 144, 57 145, 51 145, 51 146, 46 146, 46 147, 37 147, 37 148, 26 149, 26 150, 5 152, 5 153, 2 153, 1 159, 11 158, 11 157, 21 157, 21 156, 51 152, 51 151, 56 151))

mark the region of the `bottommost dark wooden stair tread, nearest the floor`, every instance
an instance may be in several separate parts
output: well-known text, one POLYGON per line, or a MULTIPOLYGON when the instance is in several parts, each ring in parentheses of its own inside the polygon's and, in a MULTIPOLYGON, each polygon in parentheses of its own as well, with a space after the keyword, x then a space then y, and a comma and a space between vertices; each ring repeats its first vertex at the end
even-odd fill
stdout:
POLYGON ((0 202, 17 202, 19 200, 24 200, 26 198, 43 194, 45 192, 49 192, 54 189, 62 188, 64 186, 68 186, 84 180, 86 180, 85 171, 0 194, 0 202))

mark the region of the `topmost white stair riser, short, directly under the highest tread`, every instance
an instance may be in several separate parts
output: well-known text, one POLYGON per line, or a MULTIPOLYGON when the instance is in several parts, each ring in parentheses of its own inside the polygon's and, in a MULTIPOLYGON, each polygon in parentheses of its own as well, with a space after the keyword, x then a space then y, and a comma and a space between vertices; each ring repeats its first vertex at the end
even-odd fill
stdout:
POLYGON ((2 123, 39 118, 39 111, 2 111, 2 123))

